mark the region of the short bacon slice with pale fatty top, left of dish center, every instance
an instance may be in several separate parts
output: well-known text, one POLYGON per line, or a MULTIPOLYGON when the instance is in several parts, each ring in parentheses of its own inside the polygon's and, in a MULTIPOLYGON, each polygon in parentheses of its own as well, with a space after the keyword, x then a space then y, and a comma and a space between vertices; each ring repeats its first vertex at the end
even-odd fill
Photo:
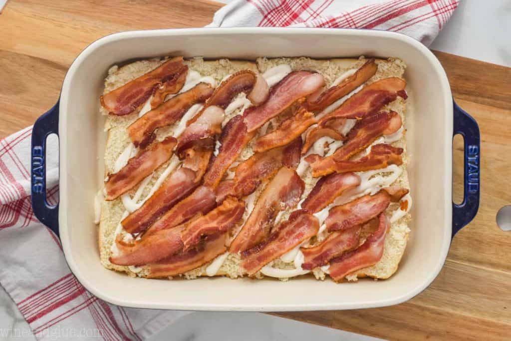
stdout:
POLYGON ((215 149, 215 135, 222 131, 224 110, 218 106, 208 106, 202 115, 189 125, 178 138, 176 154, 184 158, 192 148, 215 149))

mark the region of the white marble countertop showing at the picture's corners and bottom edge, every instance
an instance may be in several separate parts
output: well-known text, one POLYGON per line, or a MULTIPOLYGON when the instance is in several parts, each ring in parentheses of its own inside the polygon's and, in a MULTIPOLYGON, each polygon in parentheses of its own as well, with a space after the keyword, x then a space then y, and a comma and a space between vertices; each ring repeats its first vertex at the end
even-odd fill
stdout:
MULTIPOLYGON (((223 2, 228 2, 224 0, 223 2)), ((0 8, 4 0, 0 0, 0 8)), ((451 20, 430 46, 455 55, 511 67, 511 1, 462 0, 451 20)), ((152 340, 211 340, 243 337, 244 340, 311 339, 376 340, 260 313, 196 312, 183 316, 179 328, 171 325, 152 340), (194 326, 199 324, 197 330, 194 326), (228 326, 228 327, 227 327, 228 326), (262 335, 261 333, 264 333, 262 335)), ((30 328, 9 295, 0 287, 0 338, 34 340, 30 328)))

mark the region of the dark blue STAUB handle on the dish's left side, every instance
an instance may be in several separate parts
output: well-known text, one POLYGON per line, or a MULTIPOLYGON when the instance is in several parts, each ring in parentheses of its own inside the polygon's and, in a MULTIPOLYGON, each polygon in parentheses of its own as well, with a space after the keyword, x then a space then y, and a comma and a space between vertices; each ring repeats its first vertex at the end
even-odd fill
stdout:
POLYGON ((32 128, 31 190, 32 209, 44 225, 59 237, 59 204, 46 199, 46 138, 59 133, 59 102, 37 119, 32 128))

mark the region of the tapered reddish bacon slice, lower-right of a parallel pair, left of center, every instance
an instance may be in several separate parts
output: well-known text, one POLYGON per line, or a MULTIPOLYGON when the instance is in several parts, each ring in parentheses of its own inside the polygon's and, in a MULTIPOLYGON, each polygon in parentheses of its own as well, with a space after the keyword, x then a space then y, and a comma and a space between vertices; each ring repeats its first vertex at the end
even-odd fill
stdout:
POLYGON ((206 214, 215 207, 215 199, 215 192, 204 186, 197 187, 192 194, 176 203, 167 213, 156 220, 146 234, 170 229, 190 220, 197 214, 206 214))

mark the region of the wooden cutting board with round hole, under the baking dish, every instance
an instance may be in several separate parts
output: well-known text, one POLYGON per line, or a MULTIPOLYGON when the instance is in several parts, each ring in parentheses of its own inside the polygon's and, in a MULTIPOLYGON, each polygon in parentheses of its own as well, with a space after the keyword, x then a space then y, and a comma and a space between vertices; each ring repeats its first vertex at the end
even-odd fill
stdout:
MULTIPOLYGON (((56 102, 68 66, 95 39, 126 30, 202 27, 221 6, 207 0, 9 0, 0 14, 0 138, 31 125, 56 102)), ((511 339, 511 232, 495 222, 498 209, 511 204, 511 69, 435 54, 457 103, 481 129, 479 214, 454 238, 440 275, 412 300, 278 315, 387 339, 511 339)), ((454 158, 459 197, 460 141, 454 158)))

